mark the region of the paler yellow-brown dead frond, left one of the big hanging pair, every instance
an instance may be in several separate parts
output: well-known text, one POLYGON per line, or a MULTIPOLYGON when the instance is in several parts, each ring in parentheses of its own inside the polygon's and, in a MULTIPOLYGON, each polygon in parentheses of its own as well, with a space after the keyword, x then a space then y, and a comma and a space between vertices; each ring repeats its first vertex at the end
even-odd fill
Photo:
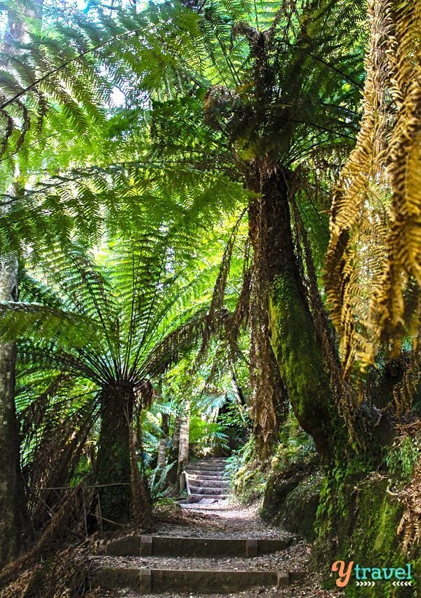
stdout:
MULTIPOLYGON (((326 255, 328 300, 333 322, 340 333, 345 376, 356 352, 361 359, 373 361, 372 343, 359 333, 358 327, 364 295, 360 286, 358 242, 376 187, 386 185, 384 161, 388 126, 383 94, 390 77, 387 46, 394 27, 385 4, 389 3, 372 0, 368 10, 371 36, 366 57, 363 117, 356 147, 342 169, 333 197, 326 255)), ((362 312, 366 310, 367 306, 362 312)))

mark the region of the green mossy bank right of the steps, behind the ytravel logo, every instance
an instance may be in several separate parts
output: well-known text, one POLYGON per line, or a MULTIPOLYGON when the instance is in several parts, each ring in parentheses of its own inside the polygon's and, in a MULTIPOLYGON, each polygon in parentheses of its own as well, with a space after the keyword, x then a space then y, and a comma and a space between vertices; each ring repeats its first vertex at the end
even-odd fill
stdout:
MULTIPOLYGON (((331 510, 323 511, 319 521, 319 539, 316 558, 326 579, 330 577, 333 562, 354 561, 365 567, 406 566, 410 559, 403 554, 396 531, 403 513, 400 503, 387 493, 389 479, 380 474, 369 474, 359 481, 355 475, 339 480, 330 476, 323 482, 324 497, 329 497, 331 510), (336 505, 341 505, 340 509, 336 505), (330 517, 326 525, 326 517, 330 517)), ((319 512, 320 517, 320 512, 319 512)), ((419 574, 420 557, 415 564, 419 574)), ((330 577, 330 587, 334 588, 330 577)), ((377 582, 375 587, 357 587, 355 578, 344 590, 349 598, 406 598, 415 596, 414 587, 394 587, 392 583, 377 582)))

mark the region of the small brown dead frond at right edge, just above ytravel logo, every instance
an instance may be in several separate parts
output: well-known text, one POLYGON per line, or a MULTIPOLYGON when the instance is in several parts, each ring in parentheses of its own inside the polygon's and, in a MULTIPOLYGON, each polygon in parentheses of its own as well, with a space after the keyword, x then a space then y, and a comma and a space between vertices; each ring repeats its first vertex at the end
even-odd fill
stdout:
POLYGON ((403 552, 409 554, 421 543, 421 458, 415 465, 413 479, 403 490, 395 495, 402 503, 405 511, 398 527, 403 552))

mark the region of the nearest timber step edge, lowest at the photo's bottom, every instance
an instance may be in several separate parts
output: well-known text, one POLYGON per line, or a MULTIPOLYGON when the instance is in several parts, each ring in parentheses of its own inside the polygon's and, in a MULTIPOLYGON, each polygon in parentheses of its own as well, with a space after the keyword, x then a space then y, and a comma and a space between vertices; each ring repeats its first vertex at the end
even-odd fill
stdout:
POLYGON ((229 594, 243 592, 255 586, 285 587, 302 579, 301 571, 215 571, 194 569, 116 569, 104 567, 95 581, 104 590, 127 587, 140 594, 164 592, 194 592, 197 594, 229 594))

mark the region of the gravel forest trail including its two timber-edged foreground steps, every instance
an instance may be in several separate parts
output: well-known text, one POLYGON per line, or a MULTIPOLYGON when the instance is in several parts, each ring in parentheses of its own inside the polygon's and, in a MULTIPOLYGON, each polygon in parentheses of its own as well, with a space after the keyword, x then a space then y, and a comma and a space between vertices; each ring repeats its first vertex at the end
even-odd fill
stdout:
MULTIPOLYGON (((194 481, 197 480, 197 477, 194 481)), ((204 486, 210 489, 222 486, 204 486)), ((258 517, 258 505, 244 507, 223 493, 203 494, 193 486, 178 514, 158 514, 153 536, 126 536, 93 556, 101 596, 330 597, 309 572, 311 549, 258 517), (211 498, 210 498, 211 497, 211 498)))

